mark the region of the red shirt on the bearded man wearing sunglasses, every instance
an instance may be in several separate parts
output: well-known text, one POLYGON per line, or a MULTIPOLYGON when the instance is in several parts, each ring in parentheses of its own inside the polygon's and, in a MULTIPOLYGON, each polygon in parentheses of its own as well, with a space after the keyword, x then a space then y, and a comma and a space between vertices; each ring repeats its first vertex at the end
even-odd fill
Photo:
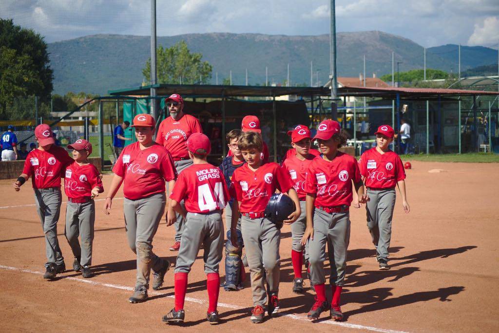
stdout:
POLYGON ((165 146, 173 158, 189 158, 187 138, 192 133, 203 133, 196 117, 184 114, 182 118, 175 120, 170 116, 159 125, 156 142, 165 146))

